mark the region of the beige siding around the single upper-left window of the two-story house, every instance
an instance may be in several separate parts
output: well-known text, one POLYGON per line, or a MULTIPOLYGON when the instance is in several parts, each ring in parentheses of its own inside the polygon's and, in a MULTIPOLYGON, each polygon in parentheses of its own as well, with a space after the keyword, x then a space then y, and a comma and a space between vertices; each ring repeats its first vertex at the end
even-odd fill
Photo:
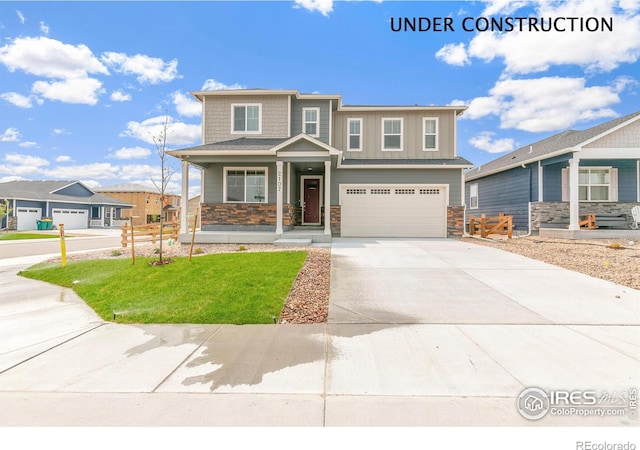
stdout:
POLYGON ((241 137, 289 137, 289 97, 265 96, 204 96, 203 143, 228 141, 241 137), (231 133, 232 104, 260 104, 261 133, 231 133))

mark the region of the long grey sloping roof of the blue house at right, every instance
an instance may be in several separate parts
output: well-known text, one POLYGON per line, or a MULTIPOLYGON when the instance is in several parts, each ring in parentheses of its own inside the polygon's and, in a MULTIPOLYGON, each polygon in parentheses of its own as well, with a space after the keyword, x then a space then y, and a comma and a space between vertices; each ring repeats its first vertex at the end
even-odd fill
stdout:
POLYGON ((465 177, 467 180, 474 180, 493 173, 509 170, 521 164, 541 161, 576 151, 578 147, 589 144, 603 135, 611 133, 638 119, 640 119, 640 111, 587 128, 586 130, 562 131, 538 142, 520 147, 493 161, 474 167, 466 172, 465 177))

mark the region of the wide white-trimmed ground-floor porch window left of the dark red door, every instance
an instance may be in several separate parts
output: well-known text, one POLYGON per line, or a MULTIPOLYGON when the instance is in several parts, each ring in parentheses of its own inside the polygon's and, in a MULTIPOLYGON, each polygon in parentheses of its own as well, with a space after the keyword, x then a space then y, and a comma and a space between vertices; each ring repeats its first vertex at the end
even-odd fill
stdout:
POLYGON ((225 167, 225 203, 266 203, 267 168, 225 167))

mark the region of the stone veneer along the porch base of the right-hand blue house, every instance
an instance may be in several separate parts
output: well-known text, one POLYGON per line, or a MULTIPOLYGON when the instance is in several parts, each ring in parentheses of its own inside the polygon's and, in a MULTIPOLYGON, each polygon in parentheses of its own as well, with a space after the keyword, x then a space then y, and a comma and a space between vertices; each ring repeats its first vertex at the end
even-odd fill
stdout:
MULTIPOLYGON (((580 202, 580 214, 626 214, 631 222, 631 208, 639 205, 634 202, 580 202)), ((541 225, 566 228, 569 223, 569 202, 533 202, 531 203, 531 231, 538 231, 541 225)))

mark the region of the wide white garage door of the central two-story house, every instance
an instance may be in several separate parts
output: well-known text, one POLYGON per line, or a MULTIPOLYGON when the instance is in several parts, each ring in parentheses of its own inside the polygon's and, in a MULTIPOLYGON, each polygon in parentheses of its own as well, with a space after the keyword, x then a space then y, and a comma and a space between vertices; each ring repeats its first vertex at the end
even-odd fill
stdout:
POLYGON ((447 188, 341 185, 344 237, 446 237, 447 188))

